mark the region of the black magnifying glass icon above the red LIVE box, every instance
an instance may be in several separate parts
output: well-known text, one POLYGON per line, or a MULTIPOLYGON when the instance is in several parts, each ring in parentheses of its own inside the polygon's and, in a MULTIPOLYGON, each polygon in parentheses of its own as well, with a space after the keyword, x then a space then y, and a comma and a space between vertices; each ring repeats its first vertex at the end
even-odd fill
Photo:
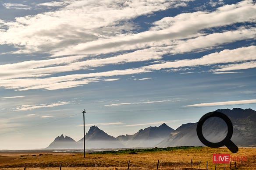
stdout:
POLYGON ((201 119, 198 121, 197 123, 197 127, 196 127, 196 133, 197 136, 199 138, 199 140, 206 146, 211 147, 211 148, 219 148, 221 146, 227 146, 227 148, 233 152, 236 153, 238 152, 238 147, 237 145, 235 145, 235 143, 233 143, 231 141, 231 137, 233 135, 233 125, 231 120, 224 114, 224 113, 220 113, 220 112, 209 112, 206 113, 205 115, 203 115, 203 117, 201 117, 201 119), (227 136, 220 142, 217 143, 213 143, 213 142, 209 142, 206 140, 206 138, 203 136, 203 132, 202 132, 202 127, 203 127, 203 123, 209 119, 210 117, 219 117, 222 120, 225 121, 225 123, 228 126, 228 134, 227 136))

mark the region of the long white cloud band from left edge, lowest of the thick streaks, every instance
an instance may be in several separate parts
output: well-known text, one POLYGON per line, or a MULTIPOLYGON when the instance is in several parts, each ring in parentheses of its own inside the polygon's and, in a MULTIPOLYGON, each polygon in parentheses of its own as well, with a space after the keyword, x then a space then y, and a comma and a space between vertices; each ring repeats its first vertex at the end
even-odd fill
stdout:
POLYGON ((70 74, 66 76, 51 77, 51 78, 24 78, 24 79, 11 79, 11 80, 0 80, 0 85, 5 86, 7 89, 67 89, 76 87, 79 85, 88 84, 91 82, 97 82, 100 80, 99 77, 110 77, 116 75, 128 75, 128 74, 139 74, 151 72, 146 71, 143 68, 127 69, 127 70, 114 70, 105 71, 99 73, 89 74, 70 74), (87 79, 86 79, 87 78, 87 79))

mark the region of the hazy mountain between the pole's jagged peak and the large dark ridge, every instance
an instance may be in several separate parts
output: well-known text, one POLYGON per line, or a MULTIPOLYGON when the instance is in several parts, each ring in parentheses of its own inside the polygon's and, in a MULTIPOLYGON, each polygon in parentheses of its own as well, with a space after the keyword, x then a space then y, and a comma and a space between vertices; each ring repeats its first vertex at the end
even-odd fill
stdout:
POLYGON ((161 124, 159 127, 147 127, 141 129, 134 135, 121 135, 117 139, 124 143, 125 147, 153 147, 174 131, 167 124, 161 124))

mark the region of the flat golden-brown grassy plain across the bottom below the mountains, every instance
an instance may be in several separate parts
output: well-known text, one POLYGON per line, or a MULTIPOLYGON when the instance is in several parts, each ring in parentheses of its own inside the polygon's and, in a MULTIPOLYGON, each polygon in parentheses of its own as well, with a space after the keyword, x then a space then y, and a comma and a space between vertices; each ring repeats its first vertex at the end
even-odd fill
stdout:
MULTIPOLYGON (((256 148, 239 148, 233 154, 227 148, 208 147, 175 147, 167 149, 142 149, 127 150, 114 153, 64 153, 52 151, 0 151, 0 170, 156 170, 159 159, 158 170, 190 170, 192 169, 214 170, 214 153, 228 153, 231 156, 248 156, 249 159, 236 162, 236 170, 256 170, 256 148), (249 160, 249 161, 248 161, 249 160)), ((223 170, 224 164, 216 164, 217 170, 223 170)), ((225 164, 225 169, 230 169, 230 164, 225 164)), ((231 162, 231 169, 235 170, 235 162, 231 162)))

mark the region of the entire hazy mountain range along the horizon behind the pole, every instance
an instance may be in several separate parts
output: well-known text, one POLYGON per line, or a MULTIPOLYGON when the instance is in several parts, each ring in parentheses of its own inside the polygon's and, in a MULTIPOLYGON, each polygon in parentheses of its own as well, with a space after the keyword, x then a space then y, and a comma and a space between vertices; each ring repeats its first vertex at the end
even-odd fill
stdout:
MULTIPOLYGON (((256 146, 256 111, 252 109, 219 109, 233 124, 231 141, 238 146, 256 146)), ((85 135, 87 149, 98 148, 136 148, 168 146, 203 146, 196 134, 197 123, 182 124, 176 130, 161 124, 159 127, 147 127, 133 135, 120 135, 117 138, 108 135, 96 126, 90 127, 85 135)), ((220 142, 227 135, 227 125, 218 117, 211 117, 203 124, 203 135, 210 142, 220 142)), ((72 138, 58 136, 46 149, 82 149, 83 138, 75 142, 72 138)))

